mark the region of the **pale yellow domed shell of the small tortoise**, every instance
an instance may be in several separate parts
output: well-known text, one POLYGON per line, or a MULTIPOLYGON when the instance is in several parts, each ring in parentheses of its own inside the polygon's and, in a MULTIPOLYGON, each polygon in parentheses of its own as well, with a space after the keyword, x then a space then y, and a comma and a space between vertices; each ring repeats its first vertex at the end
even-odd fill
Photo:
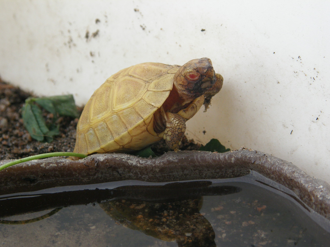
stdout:
POLYGON ((74 152, 140 150, 162 139, 153 130, 153 114, 169 96, 179 68, 142 63, 109 77, 82 111, 74 152))

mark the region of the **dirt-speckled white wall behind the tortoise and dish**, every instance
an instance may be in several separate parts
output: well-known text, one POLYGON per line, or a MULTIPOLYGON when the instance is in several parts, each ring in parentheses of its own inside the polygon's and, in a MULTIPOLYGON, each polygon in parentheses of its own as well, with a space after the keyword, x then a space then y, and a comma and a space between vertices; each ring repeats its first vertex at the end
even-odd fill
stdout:
POLYGON ((268 152, 330 182, 329 11, 325 0, 1 0, 0 76, 83 104, 119 69, 206 56, 224 85, 188 137, 268 152))

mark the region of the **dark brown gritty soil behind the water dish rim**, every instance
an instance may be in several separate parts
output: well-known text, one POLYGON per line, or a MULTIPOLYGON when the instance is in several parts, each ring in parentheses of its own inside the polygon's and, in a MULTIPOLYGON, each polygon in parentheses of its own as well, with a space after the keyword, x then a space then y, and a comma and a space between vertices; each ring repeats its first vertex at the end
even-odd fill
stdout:
MULTIPOLYGON (((72 152, 76 142, 78 118, 59 117, 60 135, 51 143, 39 142, 31 138, 21 118, 21 108, 25 99, 34 96, 0 79, 0 160, 20 159, 48 152, 72 152)), ((82 112, 82 108, 78 108, 82 112)), ((46 122, 51 122, 52 114, 44 111, 46 122)), ((181 150, 198 150, 199 144, 193 140, 182 139, 181 150)), ((152 150, 161 155, 169 148, 163 140, 155 143, 152 150)))

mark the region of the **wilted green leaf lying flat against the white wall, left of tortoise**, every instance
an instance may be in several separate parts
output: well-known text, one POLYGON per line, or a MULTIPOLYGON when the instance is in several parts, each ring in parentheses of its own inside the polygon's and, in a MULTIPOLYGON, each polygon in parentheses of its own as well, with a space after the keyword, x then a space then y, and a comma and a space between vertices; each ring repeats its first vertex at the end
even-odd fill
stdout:
POLYGON ((55 111, 60 116, 79 117, 73 95, 41 97, 36 98, 35 101, 51 113, 55 111))

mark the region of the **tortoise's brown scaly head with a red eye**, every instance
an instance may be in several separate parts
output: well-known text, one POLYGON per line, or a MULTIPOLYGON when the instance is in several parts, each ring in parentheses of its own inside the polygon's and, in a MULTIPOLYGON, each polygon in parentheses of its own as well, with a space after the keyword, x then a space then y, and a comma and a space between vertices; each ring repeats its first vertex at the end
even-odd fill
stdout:
POLYGON ((215 72, 209 58, 193 59, 174 75, 174 86, 185 102, 203 95, 215 83, 215 72))

